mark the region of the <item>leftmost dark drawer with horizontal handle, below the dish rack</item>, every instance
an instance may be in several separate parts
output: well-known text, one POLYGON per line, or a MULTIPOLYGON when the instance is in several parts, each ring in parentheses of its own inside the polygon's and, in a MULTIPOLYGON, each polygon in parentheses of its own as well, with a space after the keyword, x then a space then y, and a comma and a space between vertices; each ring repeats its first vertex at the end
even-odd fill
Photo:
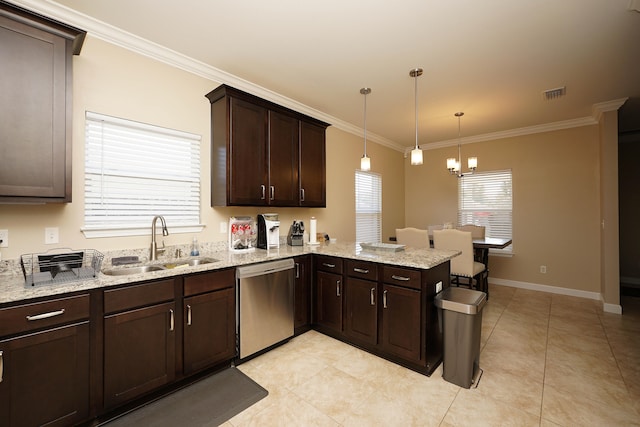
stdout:
POLYGON ((89 295, 57 298, 0 310, 0 336, 89 318, 89 295))

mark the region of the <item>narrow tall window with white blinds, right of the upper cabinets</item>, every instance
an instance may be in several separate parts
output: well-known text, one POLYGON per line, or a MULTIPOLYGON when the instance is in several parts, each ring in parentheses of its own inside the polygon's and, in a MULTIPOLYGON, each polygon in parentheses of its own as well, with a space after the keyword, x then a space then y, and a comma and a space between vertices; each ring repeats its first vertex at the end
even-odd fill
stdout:
POLYGON ((382 236, 382 178, 356 171, 356 241, 379 243, 382 236))

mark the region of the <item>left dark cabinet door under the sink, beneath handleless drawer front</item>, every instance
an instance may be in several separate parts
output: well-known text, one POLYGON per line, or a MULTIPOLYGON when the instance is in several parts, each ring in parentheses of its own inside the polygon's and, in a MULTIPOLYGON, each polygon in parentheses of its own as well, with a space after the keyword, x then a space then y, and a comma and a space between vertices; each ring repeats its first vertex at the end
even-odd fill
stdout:
POLYGON ((175 377, 175 304, 104 319, 104 403, 111 408, 175 377))

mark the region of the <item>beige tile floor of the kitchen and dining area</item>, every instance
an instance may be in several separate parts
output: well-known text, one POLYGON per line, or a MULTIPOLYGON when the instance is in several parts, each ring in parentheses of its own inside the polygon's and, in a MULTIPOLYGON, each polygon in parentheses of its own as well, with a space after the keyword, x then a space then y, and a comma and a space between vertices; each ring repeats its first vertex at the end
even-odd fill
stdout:
POLYGON ((310 331, 239 365, 269 396, 224 426, 640 426, 640 298, 622 305, 492 286, 469 390, 310 331))

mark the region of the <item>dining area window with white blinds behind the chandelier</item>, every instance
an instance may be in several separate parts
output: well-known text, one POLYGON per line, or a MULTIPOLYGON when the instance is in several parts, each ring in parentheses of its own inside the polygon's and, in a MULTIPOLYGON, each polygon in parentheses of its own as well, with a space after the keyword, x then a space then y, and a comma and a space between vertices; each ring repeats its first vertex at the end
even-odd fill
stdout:
POLYGON ((458 181, 458 224, 484 225, 486 237, 510 239, 512 200, 511 170, 466 175, 458 181))

